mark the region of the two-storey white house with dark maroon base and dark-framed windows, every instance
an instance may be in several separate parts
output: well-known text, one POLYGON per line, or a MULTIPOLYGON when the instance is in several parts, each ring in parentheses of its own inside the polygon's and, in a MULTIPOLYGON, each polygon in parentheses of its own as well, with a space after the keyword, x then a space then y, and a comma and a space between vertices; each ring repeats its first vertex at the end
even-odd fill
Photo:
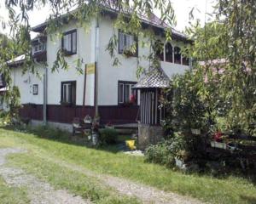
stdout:
MULTIPOLYGON (((74 117, 95 114, 100 116, 102 123, 136 122, 139 94, 131 88, 137 82, 137 57, 147 55, 149 48, 143 48, 139 43, 141 39, 138 39, 137 54, 125 57, 124 48, 134 42, 135 37, 113 27, 113 13, 113 10, 106 9, 98 20, 91 21, 89 31, 74 20, 69 21, 62 27, 62 38, 49 37, 45 31, 47 22, 32 28, 39 34, 32 40, 32 54, 41 77, 27 72, 22 75, 22 57, 10 63, 13 84, 20 88, 23 105, 20 116, 61 127, 68 127, 74 117), (113 59, 106 51, 113 32, 119 38, 117 55, 121 65, 117 66, 113 66, 113 59), (51 72, 60 48, 67 51, 70 68, 51 72), (82 59, 83 69, 86 67, 84 74, 76 69, 77 59, 82 59)), ((153 16, 144 24, 161 33, 164 27, 159 21, 153 16)), ((182 33, 172 31, 172 42, 164 45, 164 54, 160 56, 162 69, 168 77, 189 68, 189 60, 180 54, 180 48, 188 42, 182 33)), ((147 60, 139 63, 149 67, 147 60)))

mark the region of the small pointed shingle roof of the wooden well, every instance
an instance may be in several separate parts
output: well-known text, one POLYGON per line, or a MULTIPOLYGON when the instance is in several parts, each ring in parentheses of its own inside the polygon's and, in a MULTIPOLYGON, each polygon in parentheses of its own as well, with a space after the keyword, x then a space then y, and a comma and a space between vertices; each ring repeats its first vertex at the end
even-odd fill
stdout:
POLYGON ((142 77, 133 88, 168 88, 170 78, 167 77, 162 68, 149 68, 148 73, 142 77))

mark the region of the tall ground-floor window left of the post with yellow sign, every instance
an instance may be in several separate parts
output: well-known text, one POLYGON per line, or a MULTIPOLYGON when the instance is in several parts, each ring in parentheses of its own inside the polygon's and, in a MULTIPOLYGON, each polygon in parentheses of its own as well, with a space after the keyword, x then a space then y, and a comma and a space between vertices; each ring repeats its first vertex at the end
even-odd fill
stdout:
POLYGON ((76 104, 76 82, 61 82, 61 104, 76 104))

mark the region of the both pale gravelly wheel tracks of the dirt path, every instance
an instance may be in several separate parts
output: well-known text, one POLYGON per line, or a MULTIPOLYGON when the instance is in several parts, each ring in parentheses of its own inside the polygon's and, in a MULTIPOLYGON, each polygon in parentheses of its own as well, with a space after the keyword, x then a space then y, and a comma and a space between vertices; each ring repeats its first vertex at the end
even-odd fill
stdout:
MULTIPOLYGON (((69 194, 66 190, 54 190, 49 184, 44 183, 38 178, 29 175, 21 169, 4 167, 5 156, 11 153, 21 153, 19 149, 0 149, 0 175, 3 176, 5 181, 13 186, 25 186, 28 189, 29 198, 31 203, 47 203, 47 204, 84 204, 90 201, 84 201, 80 196, 69 194)), ((156 204, 202 204, 189 196, 177 195, 172 192, 158 190, 144 184, 137 184, 125 178, 117 178, 109 175, 94 173, 84 167, 79 167, 56 158, 42 158, 48 161, 55 162, 56 164, 67 167, 73 171, 84 173, 87 176, 99 179, 102 184, 112 187, 117 190, 121 195, 136 196, 143 203, 156 203, 156 204)))

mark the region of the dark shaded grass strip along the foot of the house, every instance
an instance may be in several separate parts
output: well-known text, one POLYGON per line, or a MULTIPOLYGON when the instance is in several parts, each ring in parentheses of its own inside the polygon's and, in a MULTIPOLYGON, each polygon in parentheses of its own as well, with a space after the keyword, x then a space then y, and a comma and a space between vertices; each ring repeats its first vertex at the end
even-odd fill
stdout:
MULTIPOLYGON (((98 145, 93 146, 91 142, 87 139, 86 136, 83 134, 76 134, 75 136, 72 133, 68 133, 67 131, 63 131, 61 129, 57 129, 54 127, 21 127, 21 126, 5 126, 1 127, 6 130, 15 131, 18 133, 30 133, 40 139, 49 139, 55 142, 60 142, 63 144, 72 144, 77 146, 84 146, 86 148, 94 149, 94 150, 103 150, 108 151, 113 154, 118 153, 119 144, 112 144, 112 145, 98 145)), ((121 142, 121 141, 119 141, 121 142)))

